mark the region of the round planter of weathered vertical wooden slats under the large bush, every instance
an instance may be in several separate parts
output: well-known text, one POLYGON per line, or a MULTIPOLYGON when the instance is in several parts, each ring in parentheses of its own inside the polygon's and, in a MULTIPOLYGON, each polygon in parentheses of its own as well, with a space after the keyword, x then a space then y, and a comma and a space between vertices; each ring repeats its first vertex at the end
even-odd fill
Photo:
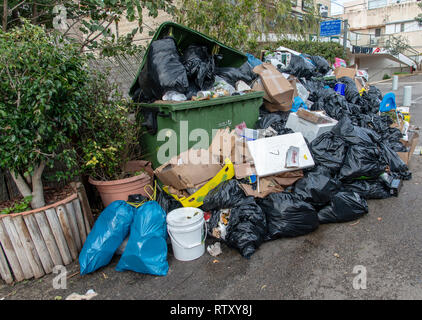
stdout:
POLYGON ((0 215, 0 274, 6 283, 40 278, 78 259, 93 217, 85 189, 36 210, 0 215))

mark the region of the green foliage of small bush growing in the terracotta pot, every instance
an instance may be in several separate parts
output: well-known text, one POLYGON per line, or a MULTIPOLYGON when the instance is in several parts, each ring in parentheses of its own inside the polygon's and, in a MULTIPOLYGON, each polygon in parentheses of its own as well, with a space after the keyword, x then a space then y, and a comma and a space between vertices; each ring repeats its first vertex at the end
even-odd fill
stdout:
POLYGON ((107 73, 93 71, 87 83, 88 105, 77 143, 82 172, 95 180, 123 179, 126 162, 140 157, 140 127, 107 73))

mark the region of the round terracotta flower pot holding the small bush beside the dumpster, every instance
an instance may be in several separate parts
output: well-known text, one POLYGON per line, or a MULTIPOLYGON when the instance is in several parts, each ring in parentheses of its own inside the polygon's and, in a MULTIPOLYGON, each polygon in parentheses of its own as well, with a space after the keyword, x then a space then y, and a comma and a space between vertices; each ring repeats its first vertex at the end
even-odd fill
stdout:
POLYGON ((152 193, 151 189, 145 190, 145 186, 151 185, 153 187, 153 176, 154 172, 151 168, 151 163, 148 161, 129 161, 126 164, 126 170, 128 172, 137 172, 140 170, 145 170, 145 172, 140 175, 119 179, 111 181, 97 181, 89 178, 89 183, 94 185, 98 192, 100 193, 101 200, 104 204, 104 207, 107 207, 110 203, 116 200, 127 201, 129 195, 131 194, 142 194, 143 196, 148 196, 152 193))

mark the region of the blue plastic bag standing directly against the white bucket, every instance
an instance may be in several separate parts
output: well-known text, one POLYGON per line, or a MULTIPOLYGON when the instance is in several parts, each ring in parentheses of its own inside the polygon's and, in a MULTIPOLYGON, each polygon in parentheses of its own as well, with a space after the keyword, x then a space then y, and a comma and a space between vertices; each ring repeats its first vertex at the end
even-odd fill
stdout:
POLYGON ((158 202, 149 201, 136 209, 129 240, 116 270, 167 275, 166 240, 166 213, 158 202))

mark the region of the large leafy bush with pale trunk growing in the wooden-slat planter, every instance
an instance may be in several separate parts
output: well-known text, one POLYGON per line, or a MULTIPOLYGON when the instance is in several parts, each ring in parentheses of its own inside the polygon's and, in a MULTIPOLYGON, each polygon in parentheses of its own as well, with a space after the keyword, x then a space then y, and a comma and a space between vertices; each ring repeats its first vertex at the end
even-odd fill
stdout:
POLYGON ((44 205, 42 172, 61 161, 74 175, 72 139, 83 124, 86 57, 56 33, 25 21, 0 31, 0 167, 33 209, 44 205))

